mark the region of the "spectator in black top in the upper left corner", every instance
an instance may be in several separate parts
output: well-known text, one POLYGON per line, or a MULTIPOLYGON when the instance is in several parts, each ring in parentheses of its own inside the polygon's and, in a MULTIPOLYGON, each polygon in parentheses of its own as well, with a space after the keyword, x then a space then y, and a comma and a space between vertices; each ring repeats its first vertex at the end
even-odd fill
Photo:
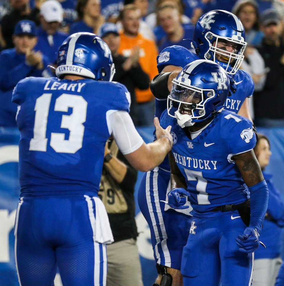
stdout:
POLYGON ((2 49, 14 47, 12 35, 20 20, 31 20, 38 24, 38 9, 30 9, 29 0, 10 0, 12 11, 1 20, 0 45, 2 49))

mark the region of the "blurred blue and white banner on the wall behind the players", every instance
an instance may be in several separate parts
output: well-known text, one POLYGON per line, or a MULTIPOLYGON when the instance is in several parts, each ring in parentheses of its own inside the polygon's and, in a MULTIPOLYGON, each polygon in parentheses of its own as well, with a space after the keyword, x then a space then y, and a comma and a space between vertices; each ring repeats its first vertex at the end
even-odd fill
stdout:
MULTIPOLYGON (((138 128, 146 142, 153 138, 153 127, 138 128)), ((274 182, 284 200, 284 129, 258 128, 258 132, 266 134, 271 142, 272 157, 267 168, 274 176, 274 182)), ((19 196, 18 182, 18 142, 19 132, 16 128, 0 128, 0 285, 16 286, 17 274, 14 259, 13 226, 19 196)), ((138 248, 145 286, 152 285, 156 277, 153 250, 150 242, 149 227, 137 205, 137 189, 142 173, 139 172, 136 183, 136 221, 138 225, 138 248)), ((56 286, 62 286, 59 275, 55 279, 56 286)))

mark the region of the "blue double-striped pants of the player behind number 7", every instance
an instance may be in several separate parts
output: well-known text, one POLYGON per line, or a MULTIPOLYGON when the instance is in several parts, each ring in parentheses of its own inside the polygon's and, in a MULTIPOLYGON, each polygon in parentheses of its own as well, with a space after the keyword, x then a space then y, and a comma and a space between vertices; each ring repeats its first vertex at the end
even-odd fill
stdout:
POLYGON ((165 211, 170 173, 156 167, 143 175, 138 190, 139 208, 146 219, 156 263, 180 269, 191 216, 170 208, 165 211))

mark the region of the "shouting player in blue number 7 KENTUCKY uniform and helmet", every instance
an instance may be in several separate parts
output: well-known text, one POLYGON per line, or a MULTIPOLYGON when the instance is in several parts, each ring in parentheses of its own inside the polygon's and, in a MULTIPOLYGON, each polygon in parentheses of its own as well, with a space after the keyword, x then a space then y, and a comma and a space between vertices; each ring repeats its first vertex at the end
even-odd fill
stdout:
POLYGON ((268 188, 253 151, 252 122, 224 110, 229 92, 220 65, 193 61, 173 80, 160 119, 175 135, 166 203, 186 209, 188 199, 193 208, 181 262, 184 286, 252 283, 268 188))

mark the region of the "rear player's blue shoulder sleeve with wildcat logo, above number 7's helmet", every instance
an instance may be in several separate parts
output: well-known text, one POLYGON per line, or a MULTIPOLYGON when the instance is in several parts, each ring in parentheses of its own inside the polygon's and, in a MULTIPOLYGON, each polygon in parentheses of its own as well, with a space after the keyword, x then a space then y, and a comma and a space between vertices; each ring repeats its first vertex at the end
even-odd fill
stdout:
POLYGON ((188 63, 198 60, 199 57, 182 46, 170 46, 162 50, 157 56, 157 68, 159 73, 167 65, 175 65, 183 68, 188 63))

